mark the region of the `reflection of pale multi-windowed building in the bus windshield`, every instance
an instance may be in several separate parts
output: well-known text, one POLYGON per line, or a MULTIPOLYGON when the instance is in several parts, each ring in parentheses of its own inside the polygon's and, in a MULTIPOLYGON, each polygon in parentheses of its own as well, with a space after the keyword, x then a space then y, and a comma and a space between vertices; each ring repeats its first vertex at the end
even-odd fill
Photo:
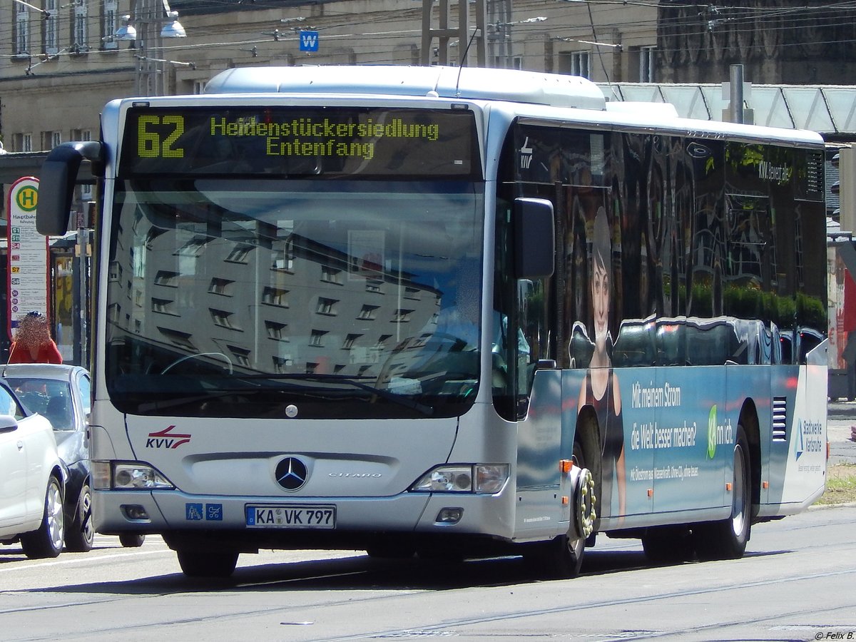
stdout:
POLYGON ((110 266, 116 368, 377 377, 396 346, 416 350, 436 328, 453 262, 408 251, 430 242, 399 223, 219 227, 165 229, 138 211, 122 228, 127 259, 110 266), (175 364, 189 355, 199 358, 175 364))

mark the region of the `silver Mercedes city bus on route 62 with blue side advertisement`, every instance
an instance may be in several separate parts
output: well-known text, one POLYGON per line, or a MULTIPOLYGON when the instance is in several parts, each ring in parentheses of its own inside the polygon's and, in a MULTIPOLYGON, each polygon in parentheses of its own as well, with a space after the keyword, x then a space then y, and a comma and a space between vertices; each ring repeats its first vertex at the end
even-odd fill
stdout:
POLYGON ((259 549, 521 555, 598 532, 736 558, 823 493, 817 134, 610 104, 573 76, 235 68, 107 104, 98 531, 188 575, 259 549))

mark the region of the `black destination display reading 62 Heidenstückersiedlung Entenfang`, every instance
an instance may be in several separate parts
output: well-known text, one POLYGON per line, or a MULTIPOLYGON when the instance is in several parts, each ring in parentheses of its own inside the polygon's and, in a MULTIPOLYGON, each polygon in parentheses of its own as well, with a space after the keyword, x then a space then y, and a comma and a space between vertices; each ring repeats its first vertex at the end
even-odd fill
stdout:
POLYGON ((477 150, 469 110, 146 107, 119 174, 470 176, 477 150))

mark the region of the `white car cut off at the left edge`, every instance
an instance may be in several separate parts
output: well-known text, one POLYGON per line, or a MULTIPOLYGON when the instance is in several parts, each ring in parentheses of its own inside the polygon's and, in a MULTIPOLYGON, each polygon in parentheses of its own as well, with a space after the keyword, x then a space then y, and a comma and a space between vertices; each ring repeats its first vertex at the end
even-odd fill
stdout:
POLYGON ((20 541, 32 558, 62 552, 66 477, 51 422, 0 381, 0 544, 20 541))

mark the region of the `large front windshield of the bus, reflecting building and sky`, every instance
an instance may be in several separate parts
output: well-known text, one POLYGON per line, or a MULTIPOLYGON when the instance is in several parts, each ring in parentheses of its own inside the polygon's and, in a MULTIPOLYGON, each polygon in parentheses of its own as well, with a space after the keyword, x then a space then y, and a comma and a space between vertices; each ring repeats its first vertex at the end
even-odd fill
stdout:
POLYGON ((122 412, 462 413, 481 181, 116 181, 106 381, 122 412))

